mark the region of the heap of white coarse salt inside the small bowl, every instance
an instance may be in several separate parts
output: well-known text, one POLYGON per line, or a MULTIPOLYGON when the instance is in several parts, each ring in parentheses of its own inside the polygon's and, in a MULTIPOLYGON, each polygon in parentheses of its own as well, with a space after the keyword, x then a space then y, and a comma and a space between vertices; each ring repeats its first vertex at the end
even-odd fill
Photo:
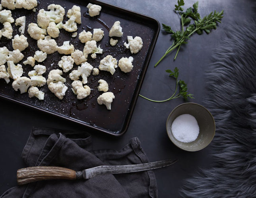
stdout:
POLYGON ((175 139, 184 143, 196 140, 199 134, 196 118, 190 114, 182 114, 175 118, 171 130, 175 139))

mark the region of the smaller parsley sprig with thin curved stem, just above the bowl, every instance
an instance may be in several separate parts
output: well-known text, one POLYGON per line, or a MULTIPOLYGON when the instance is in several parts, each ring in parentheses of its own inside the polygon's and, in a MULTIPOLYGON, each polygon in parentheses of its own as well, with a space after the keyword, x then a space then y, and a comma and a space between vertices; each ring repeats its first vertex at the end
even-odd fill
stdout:
POLYGON ((178 68, 177 67, 175 67, 175 69, 173 71, 168 69, 168 70, 166 70, 166 72, 169 73, 169 76, 175 78, 175 80, 176 80, 175 91, 171 97, 169 97, 166 100, 157 101, 157 100, 151 100, 143 95, 140 95, 140 96, 149 101, 156 102, 156 103, 166 102, 166 101, 178 98, 178 97, 183 97, 185 100, 188 98, 194 98, 193 94, 190 94, 187 92, 188 91, 187 84, 183 80, 178 80, 178 68), (178 87, 179 87, 179 89, 178 89, 178 87), (178 90, 179 90, 179 92, 177 93, 178 90))

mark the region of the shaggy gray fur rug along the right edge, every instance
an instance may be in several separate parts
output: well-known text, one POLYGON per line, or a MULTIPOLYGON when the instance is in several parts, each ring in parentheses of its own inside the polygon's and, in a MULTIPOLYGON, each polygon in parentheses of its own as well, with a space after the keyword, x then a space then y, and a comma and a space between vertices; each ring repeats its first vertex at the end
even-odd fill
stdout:
MULTIPOLYGON (((254 25, 252 25, 254 24, 254 25)), ((187 179, 182 197, 256 197, 256 26, 237 25, 214 53, 205 106, 213 114, 214 164, 187 179)))

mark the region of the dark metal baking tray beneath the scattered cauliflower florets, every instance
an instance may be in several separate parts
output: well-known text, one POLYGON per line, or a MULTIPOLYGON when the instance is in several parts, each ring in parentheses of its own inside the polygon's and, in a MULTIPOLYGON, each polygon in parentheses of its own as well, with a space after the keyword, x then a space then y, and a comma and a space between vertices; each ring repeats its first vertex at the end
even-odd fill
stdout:
MULTIPOLYGON (((16 19, 17 17, 25 15, 27 30, 29 23, 37 23, 36 16, 38 11, 42 8, 47 10, 49 4, 60 4, 65 8, 66 13, 73 5, 81 7, 82 23, 81 25, 78 25, 78 34, 82 30, 88 31, 93 28, 101 28, 104 30, 105 36, 100 42, 97 42, 97 44, 100 44, 101 48, 103 48, 103 54, 97 55, 96 59, 91 59, 88 56, 89 58, 87 62, 93 67, 98 67, 99 61, 107 55, 112 55, 117 60, 121 57, 132 56, 134 57, 133 70, 130 73, 124 73, 117 68, 113 76, 106 71, 100 71, 99 76, 89 76, 87 85, 92 89, 91 94, 82 100, 76 99, 76 95, 74 95, 71 90, 72 81, 68 78, 69 72, 63 74, 63 77, 67 80, 65 84, 69 88, 68 91, 66 91, 63 100, 59 100, 54 96, 54 94, 48 90, 47 85, 39 88, 41 91, 45 92, 45 99, 43 101, 39 101, 37 98, 29 98, 27 93, 20 94, 19 91, 14 91, 12 88, 12 79, 9 84, 6 84, 4 79, 0 79, 0 97, 77 122, 88 128, 102 131, 103 133, 114 136, 122 135, 128 128, 132 112, 138 99, 145 72, 149 65, 149 60, 159 34, 159 22, 156 19, 140 13, 135 13, 96 0, 78 0, 76 3, 71 0, 40 1, 35 12, 32 10, 16 9, 12 11, 12 16, 16 19), (88 3, 102 6, 101 13, 98 17, 88 17, 88 9, 86 8, 88 3), (109 44, 110 38, 108 34, 109 29, 115 21, 120 21, 124 33, 121 38, 117 38, 118 44, 112 47, 109 44), (127 42, 127 36, 140 36, 142 38, 143 48, 139 53, 131 54, 130 50, 124 47, 123 44, 124 42, 127 42), (101 94, 97 90, 99 79, 106 80, 109 84, 109 91, 112 91, 115 95, 111 110, 107 110, 105 105, 97 104, 97 97, 101 94)), ((67 20, 68 18, 65 16, 64 21, 67 20)), ((16 27, 14 23, 12 23, 12 28, 14 29, 13 36, 19 34, 18 27, 16 27)), ((28 35, 26 30, 25 36, 28 38, 29 47, 22 51, 24 59, 20 61, 19 64, 26 60, 27 57, 33 56, 35 51, 39 50, 36 41, 28 35)), ((70 40, 70 44, 73 44, 75 49, 83 51, 84 44, 78 40, 78 36, 72 38, 71 35, 72 33, 61 29, 60 36, 55 39, 58 46, 61 46, 64 41, 70 40)), ((0 47, 6 46, 9 50, 13 50, 11 43, 11 40, 2 37, 0 40, 0 47)), ((61 57, 62 55, 55 52, 49 54, 44 62, 39 63, 47 67, 47 72, 43 74, 45 78, 48 77, 48 72, 50 70, 60 69, 58 67, 58 61, 60 61, 61 57)), ((5 65, 7 67, 7 63, 5 65)), ((27 73, 30 70, 33 70, 33 67, 30 65, 21 65, 24 70, 23 76, 28 77, 27 73)), ((73 69, 77 69, 77 67, 78 66, 74 65, 73 69)))

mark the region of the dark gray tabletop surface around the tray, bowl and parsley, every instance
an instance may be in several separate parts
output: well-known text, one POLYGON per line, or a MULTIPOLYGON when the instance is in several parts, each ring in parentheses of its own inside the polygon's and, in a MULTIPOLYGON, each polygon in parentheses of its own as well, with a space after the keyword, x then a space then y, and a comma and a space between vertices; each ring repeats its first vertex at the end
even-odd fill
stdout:
MULTIPOLYGON (((173 11, 176 0, 103 1, 154 17, 160 24, 171 25, 174 30, 180 27, 178 16, 173 11)), ((185 6, 192 6, 194 2, 185 0, 185 6)), ((175 53, 171 53, 154 68, 154 64, 171 45, 170 35, 164 34, 161 30, 142 85, 140 92, 142 95, 159 100, 168 98, 173 93, 175 84, 165 70, 178 67, 179 78, 188 84, 188 91, 195 97, 189 101, 204 105, 204 95, 207 94, 205 70, 211 63, 213 50, 221 45, 221 39, 225 37, 225 29, 238 21, 255 18, 254 0, 202 0, 199 2, 198 10, 202 16, 214 10, 224 10, 222 23, 209 35, 193 35, 192 40, 180 49, 175 62, 173 61, 175 53)), ((130 138, 138 137, 149 161, 179 159, 170 167, 154 171, 159 197, 178 197, 178 189, 182 186, 184 179, 189 178, 201 168, 210 167, 212 162, 210 154, 214 152, 211 145, 197 152, 187 152, 176 148, 171 143, 166 133, 165 122, 171 110, 181 103, 184 101, 180 98, 165 103, 153 103, 139 97, 128 131, 121 137, 93 132, 93 148, 118 150, 126 145, 130 138)), ((16 186, 16 171, 25 167, 21 152, 33 127, 87 131, 78 124, 0 99, 0 154, 2 158, 0 194, 16 186)))

